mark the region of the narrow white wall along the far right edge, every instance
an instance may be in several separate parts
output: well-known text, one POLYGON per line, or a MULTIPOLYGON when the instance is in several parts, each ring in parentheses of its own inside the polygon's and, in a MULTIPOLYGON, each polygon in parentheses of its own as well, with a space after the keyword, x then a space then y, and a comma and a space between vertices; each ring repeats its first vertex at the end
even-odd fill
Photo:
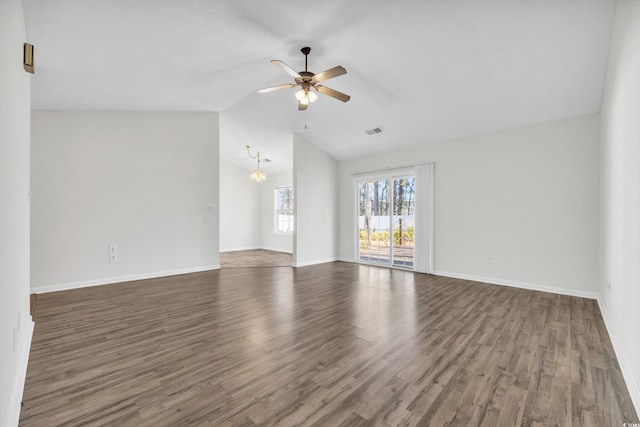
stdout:
POLYGON ((598 289, 640 412, 640 2, 618 1, 602 106, 602 266, 598 289), (607 287, 607 282, 611 287, 607 287))

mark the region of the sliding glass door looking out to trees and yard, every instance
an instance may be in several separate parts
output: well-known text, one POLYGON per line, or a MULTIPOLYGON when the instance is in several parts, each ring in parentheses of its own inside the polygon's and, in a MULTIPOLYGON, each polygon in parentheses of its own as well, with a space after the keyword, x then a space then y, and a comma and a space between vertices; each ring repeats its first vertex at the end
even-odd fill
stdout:
POLYGON ((357 180, 359 262, 413 268, 414 184, 412 174, 357 180))

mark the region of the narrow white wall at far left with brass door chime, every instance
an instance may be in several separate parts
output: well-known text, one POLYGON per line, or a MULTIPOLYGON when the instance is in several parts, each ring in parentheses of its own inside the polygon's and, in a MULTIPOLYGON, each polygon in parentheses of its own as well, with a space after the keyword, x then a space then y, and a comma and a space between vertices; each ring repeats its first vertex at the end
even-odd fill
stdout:
POLYGON ((28 202, 31 76, 22 68, 27 39, 20 0, 0 2, 0 34, 0 424, 14 426, 33 331, 28 202))

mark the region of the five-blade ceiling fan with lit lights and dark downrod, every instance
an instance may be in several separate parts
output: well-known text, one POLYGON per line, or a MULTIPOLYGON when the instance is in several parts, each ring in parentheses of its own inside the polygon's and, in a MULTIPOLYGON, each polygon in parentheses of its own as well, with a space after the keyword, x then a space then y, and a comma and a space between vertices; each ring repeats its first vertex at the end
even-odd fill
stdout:
POLYGON ((300 49, 300 52, 302 52, 302 54, 304 55, 304 71, 300 71, 299 73, 296 73, 291 67, 278 59, 273 59, 271 61, 273 65, 281 68, 285 73, 293 77, 295 79, 295 83, 287 83, 283 85, 267 87, 264 89, 259 89, 258 92, 267 93, 280 89, 289 89, 292 87, 300 86, 301 89, 296 92, 296 98, 298 99, 298 110, 306 110, 309 104, 315 102, 318 99, 318 95, 316 95, 315 92, 329 95, 330 97, 342 102, 347 102, 349 99, 351 99, 351 97, 347 94, 317 84, 320 82, 324 82, 325 80, 347 74, 347 70, 345 70, 344 67, 338 65, 337 67, 333 67, 321 73, 314 74, 311 71, 307 70, 307 55, 309 55, 309 53, 311 52, 311 48, 303 47, 302 49, 300 49))

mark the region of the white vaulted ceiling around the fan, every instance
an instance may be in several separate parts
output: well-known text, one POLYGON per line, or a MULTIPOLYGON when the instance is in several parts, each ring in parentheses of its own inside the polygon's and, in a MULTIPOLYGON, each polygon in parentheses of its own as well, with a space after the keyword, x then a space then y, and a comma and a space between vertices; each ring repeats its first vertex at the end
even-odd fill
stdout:
POLYGON ((336 159, 600 110, 613 0, 24 0, 34 109, 219 111, 221 156, 290 168, 291 132, 336 159), (291 78, 344 66, 297 111, 291 78), (305 129, 305 124, 307 128, 305 129), (364 131, 380 126, 384 133, 364 131))

